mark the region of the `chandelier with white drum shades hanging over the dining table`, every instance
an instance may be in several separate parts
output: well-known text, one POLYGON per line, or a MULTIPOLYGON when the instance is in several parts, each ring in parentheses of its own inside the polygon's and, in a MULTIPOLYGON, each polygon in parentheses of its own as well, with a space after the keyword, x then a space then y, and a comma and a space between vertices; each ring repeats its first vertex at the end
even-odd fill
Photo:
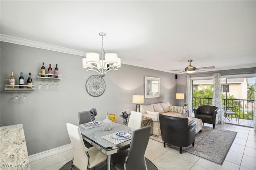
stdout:
POLYGON ((102 37, 102 47, 100 54, 98 53, 86 53, 86 58, 83 58, 83 68, 87 68, 86 71, 96 71, 100 76, 106 76, 106 73, 110 70, 118 70, 121 66, 121 59, 117 57, 116 53, 105 53, 103 49, 103 37, 106 33, 99 33, 102 37))

